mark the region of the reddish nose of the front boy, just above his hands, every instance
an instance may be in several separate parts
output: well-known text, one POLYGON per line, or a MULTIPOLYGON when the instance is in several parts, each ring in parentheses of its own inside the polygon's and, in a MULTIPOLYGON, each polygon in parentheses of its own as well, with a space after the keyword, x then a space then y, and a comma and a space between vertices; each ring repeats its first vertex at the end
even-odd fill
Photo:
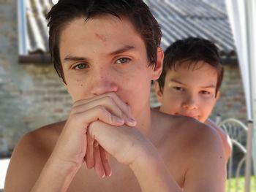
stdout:
POLYGON ((118 86, 110 74, 98 74, 97 77, 93 77, 91 84, 91 93, 94 96, 118 90, 118 86))

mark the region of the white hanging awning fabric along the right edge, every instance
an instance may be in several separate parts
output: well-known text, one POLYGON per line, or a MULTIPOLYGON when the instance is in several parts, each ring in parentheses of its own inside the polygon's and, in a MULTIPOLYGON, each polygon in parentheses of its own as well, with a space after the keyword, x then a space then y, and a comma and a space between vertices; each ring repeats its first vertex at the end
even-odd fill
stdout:
POLYGON ((226 0, 226 3, 244 83, 247 116, 254 122, 252 155, 256 173, 256 1, 226 0))

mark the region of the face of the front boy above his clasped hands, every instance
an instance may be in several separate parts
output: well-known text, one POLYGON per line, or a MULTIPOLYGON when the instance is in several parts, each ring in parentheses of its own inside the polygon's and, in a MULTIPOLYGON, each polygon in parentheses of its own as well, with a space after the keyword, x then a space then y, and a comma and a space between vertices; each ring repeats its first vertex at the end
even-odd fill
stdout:
POLYGON ((73 101, 115 92, 134 113, 148 106, 150 82, 162 69, 162 50, 157 67, 148 67, 143 39, 126 18, 77 18, 61 32, 59 47, 73 101))

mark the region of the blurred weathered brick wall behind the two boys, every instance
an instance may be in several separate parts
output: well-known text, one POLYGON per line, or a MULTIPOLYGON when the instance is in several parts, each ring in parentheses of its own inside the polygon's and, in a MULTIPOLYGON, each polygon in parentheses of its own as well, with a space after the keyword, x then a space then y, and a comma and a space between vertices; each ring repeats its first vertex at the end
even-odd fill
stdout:
MULTIPOLYGON (((67 118, 72 104, 52 65, 18 64, 16 13, 15 0, 0 1, 0 157, 26 132, 67 118)), ((246 120, 237 65, 225 66, 221 91, 213 117, 246 120)))

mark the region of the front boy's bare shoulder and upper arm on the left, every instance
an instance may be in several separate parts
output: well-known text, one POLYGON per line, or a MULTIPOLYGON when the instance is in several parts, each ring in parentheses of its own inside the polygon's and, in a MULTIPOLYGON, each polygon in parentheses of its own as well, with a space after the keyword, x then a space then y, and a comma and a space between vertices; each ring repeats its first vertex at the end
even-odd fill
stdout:
POLYGON ((12 153, 4 191, 30 191, 63 126, 64 122, 50 124, 37 128, 20 139, 12 153))

